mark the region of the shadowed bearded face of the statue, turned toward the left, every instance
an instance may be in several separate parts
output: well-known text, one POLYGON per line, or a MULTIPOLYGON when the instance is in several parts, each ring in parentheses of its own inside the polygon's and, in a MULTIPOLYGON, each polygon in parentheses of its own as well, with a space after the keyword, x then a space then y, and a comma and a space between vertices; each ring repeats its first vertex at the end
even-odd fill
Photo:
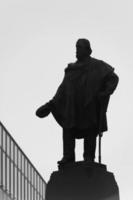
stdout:
POLYGON ((76 44, 76 57, 78 60, 83 60, 88 56, 88 50, 86 45, 82 41, 78 41, 76 44))

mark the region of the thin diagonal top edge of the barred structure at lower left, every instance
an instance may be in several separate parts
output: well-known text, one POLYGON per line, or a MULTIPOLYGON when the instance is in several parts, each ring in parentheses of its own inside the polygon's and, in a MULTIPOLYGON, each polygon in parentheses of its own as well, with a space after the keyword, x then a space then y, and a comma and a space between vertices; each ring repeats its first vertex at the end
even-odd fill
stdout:
POLYGON ((6 129, 6 127, 3 125, 3 123, 0 121, 0 126, 5 130, 5 132, 7 133, 7 135, 11 138, 11 140, 15 143, 15 145, 17 146, 17 148, 19 149, 19 151, 23 154, 23 156, 27 159, 27 161, 29 162, 29 164, 32 166, 32 168, 35 170, 35 172, 38 174, 38 176, 42 179, 42 181, 46 184, 45 180, 43 179, 42 175, 38 172, 38 170, 35 168, 35 166, 32 164, 32 162, 30 161, 30 159, 26 156, 26 154, 23 152, 23 150, 21 149, 21 147, 17 144, 17 142, 14 140, 14 138, 12 137, 12 135, 9 133, 9 131, 6 129))

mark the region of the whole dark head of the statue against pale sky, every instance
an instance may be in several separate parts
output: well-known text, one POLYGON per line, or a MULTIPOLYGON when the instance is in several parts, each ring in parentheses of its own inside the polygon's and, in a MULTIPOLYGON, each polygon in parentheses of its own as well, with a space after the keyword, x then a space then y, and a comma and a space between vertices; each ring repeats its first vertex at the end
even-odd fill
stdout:
POLYGON ((77 59, 84 60, 92 53, 90 42, 87 39, 78 39, 76 42, 76 57, 77 59))

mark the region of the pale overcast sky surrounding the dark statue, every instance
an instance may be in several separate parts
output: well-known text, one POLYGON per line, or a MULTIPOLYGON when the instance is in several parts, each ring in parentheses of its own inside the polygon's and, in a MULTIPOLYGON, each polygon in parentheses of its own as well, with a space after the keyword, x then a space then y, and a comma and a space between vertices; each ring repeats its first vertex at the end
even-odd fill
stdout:
MULTIPOLYGON (((120 77, 108 109, 102 161, 114 172, 121 200, 133 186, 133 3, 131 0, 12 0, 0 2, 0 120, 46 181, 62 157, 62 129, 35 110, 50 100, 88 38, 93 57, 120 77)), ((82 160, 83 141, 77 141, 82 160)))

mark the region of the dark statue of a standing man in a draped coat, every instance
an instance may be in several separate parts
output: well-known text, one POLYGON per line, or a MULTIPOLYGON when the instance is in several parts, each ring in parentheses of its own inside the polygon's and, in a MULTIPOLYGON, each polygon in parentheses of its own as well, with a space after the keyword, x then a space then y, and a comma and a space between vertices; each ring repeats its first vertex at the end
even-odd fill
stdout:
POLYGON ((55 96, 36 111, 40 118, 52 112, 63 128, 63 158, 59 164, 75 161, 76 138, 84 138, 84 160, 93 162, 96 137, 107 131, 107 106, 118 76, 113 67, 91 57, 91 53, 87 39, 76 42, 76 62, 65 68, 55 96))

